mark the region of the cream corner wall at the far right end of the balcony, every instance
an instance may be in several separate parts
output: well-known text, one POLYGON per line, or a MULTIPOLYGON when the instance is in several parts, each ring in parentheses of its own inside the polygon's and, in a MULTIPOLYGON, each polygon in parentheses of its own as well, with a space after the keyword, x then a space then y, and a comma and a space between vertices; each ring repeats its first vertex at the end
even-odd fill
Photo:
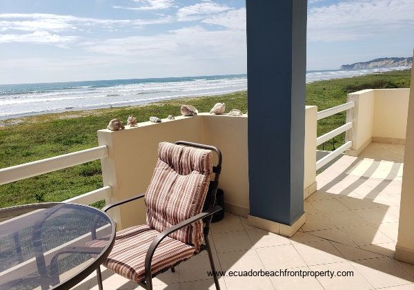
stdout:
POLYGON ((346 154, 357 156, 371 142, 404 144, 409 88, 360 90, 348 94, 355 107, 346 113, 353 128, 346 133, 352 147, 346 154))

